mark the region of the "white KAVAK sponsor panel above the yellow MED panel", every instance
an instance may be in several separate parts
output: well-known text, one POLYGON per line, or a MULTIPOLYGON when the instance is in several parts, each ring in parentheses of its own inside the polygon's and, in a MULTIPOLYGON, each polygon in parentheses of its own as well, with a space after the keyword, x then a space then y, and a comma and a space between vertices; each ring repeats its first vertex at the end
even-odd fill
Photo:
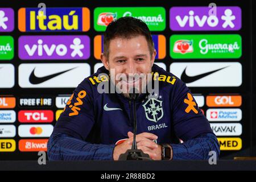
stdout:
POLYGON ((242 125, 240 123, 210 123, 216 136, 240 136, 242 125))

